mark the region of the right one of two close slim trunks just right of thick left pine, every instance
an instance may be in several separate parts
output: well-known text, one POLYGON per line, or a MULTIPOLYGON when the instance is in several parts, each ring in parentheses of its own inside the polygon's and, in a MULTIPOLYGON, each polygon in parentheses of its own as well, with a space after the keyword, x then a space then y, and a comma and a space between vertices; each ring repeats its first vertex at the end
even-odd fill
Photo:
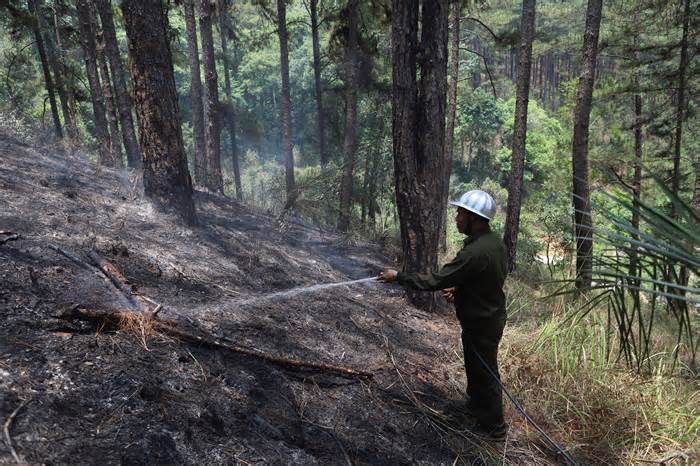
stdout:
POLYGON ((219 86, 214 57, 214 36, 212 32, 213 6, 211 0, 199 0, 199 32, 202 36, 202 57, 204 58, 204 85, 206 86, 206 128, 204 132, 207 159, 205 185, 216 193, 224 192, 221 176, 221 147, 219 142, 219 86))

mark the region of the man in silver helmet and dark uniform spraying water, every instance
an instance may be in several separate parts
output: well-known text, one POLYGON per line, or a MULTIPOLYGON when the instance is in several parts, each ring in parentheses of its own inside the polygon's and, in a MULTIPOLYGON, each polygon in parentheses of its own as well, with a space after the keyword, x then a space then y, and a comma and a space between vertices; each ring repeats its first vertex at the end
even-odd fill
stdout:
POLYGON ((416 290, 442 290, 448 301, 454 301, 462 326, 467 412, 476 419, 479 433, 500 439, 506 425, 501 387, 495 377, 499 377, 498 344, 506 322, 503 283, 507 269, 503 242, 489 225, 496 202, 488 193, 472 190, 450 204, 457 206, 457 229, 468 236, 452 262, 439 272, 385 269, 379 279, 416 290))

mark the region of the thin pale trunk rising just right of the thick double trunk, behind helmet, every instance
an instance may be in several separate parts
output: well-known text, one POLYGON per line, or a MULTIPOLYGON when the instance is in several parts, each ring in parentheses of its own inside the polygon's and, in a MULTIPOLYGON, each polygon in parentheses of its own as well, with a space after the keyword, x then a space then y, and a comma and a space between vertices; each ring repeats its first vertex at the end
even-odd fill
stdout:
MULTIPOLYGON (((457 116, 457 84, 459 83, 459 20, 460 2, 452 2, 452 36, 450 39, 450 84, 447 88, 447 127, 445 128, 445 199, 450 192, 450 174, 454 155, 455 120, 457 116)), ((447 251, 447 203, 442 207, 445 219, 440 226, 440 246, 447 251)))

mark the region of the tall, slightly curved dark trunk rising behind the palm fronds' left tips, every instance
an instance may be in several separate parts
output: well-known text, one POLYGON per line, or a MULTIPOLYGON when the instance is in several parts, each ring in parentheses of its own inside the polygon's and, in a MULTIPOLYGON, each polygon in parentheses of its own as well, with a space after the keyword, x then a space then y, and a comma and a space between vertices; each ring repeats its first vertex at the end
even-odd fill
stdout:
POLYGON ((578 289, 590 288, 593 273, 593 219, 588 185, 588 125, 593 100, 602 10, 603 0, 588 0, 581 76, 574 110, 572 166, 576 287, 578 289))

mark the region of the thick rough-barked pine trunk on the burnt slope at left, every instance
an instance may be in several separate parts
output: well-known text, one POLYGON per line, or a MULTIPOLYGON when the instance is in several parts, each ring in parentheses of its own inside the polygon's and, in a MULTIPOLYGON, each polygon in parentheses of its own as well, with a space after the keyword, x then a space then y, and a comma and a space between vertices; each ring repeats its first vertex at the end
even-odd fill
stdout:
POLYGON ((196 223, 192 181, 180 128, 180 112, 168 43, 167 17, 160 0, 122 0, 141 131, 143 184, 159 208, 196 223))

